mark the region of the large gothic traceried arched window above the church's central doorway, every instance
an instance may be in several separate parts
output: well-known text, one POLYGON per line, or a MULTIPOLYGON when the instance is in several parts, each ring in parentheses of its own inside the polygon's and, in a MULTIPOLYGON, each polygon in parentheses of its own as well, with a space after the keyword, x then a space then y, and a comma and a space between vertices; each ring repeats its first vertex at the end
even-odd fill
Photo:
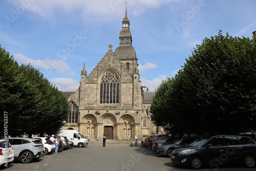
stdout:
POLYGON ((119 81, 112 71, 107 71, 101 79, 100 103, 119 103, 119 81))

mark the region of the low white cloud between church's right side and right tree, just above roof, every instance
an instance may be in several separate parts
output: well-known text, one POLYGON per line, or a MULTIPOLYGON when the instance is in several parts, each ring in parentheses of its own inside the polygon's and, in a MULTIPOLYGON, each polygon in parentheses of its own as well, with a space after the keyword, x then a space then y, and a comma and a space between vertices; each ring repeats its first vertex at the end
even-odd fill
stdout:
MULTIPOLYGON (((150 89, 150 92, 154 92, 155 89, 159 87, 163 80, 166 79, 165 75, 160 75, 158 78, 154 78, 153 80, 147 80, 146 78, 141 78, 141 86, 146 86, 150 89)), ((144 90, 146 91, 146 90, 144 90)))

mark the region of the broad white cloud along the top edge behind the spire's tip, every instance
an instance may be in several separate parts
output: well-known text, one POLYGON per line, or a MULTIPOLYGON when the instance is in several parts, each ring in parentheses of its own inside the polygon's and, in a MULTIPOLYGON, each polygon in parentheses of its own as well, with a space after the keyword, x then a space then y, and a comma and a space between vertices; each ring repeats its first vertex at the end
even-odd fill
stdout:
MULTIPOLYGON (((129 11, 130 14, 132 13, 134 15, 139 15, 149 8, 159 8, 161 5, 177 1, 179 0, 138 0, 128 2, 127 8, 131 9, 129 11)), ((57 12, 66 12, 72 14, 74 11, 81 11, 80 13, 82 13, 83 17, 86 19, 94 20, 95 18, 97 20, 110 20, 113 19, 113 16, 119 17, 120 14, 124 14, 125 7, 124 0, 27 0, 12 1, 12 3, 16 6, 16 8, 25 7, 27 11, 36 13, 42 18, 51 20, 52 22, 55 20, 55 15, 57 12)))

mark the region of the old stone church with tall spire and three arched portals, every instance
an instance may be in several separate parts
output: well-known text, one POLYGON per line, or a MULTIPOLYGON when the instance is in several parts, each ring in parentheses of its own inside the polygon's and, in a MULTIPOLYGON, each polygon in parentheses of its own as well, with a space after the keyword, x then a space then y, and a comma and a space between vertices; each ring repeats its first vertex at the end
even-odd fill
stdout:
POLYGON ((91 140, 142 140, 163 134, 151 121, 155 92, 143 91, 135 49, 132 46, 127 7, 119 35, 119 47, 109 50, 88 75, 85 64, 76 92, 63 92, 70 112, 62 129, 74 129, 91 140))

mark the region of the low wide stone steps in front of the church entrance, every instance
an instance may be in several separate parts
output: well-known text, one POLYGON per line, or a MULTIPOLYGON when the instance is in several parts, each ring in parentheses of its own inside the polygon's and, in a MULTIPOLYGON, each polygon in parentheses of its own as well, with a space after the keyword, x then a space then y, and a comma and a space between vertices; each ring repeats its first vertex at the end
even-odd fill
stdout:
MULTIPOLYGON (((88 147, 102 147, 102 141, 94 141, 90 140, 88 143, 88 147)), ((113 140, 106 140, 106 147, 131 147, 135 146, 135 141, 113 141, 113 140)), ((138 141, 137 146, 141 146, 141 141, 138 141)))

